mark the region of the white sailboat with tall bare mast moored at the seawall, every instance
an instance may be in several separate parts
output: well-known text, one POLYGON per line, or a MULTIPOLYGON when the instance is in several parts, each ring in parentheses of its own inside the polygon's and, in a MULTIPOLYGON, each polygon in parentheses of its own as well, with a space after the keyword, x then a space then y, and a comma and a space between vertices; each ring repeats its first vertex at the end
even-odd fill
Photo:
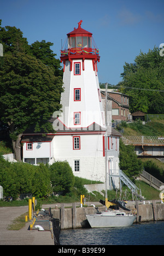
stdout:
MULTIPOLYGON (((104 205, 106 206, 106 211, 99 212, 95 214, 86 214, 86 218, 91 226, 91 228, 114 228, 121 226, 131 226, 136 219, 136 215, 127 214, 124 211, 113 210, 110 207, 116 206, 117 203, 110 202, 107 199, 107 85, 106 85, 106 200, 104 205)), ((128 210, 128 209, 126 209, 128 210)), ((129 210, 130 211, 130 210, 129 210)))

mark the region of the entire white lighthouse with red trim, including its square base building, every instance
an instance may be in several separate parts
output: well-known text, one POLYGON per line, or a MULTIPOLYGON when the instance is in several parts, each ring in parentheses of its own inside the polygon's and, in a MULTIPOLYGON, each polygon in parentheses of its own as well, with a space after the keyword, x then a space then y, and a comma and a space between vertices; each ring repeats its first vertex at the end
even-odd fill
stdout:
MULTIPOLYGON (((52 123, 56 133, 40 135, 26 133, 23 159, 37 164, 39 154, 43 162, 67 160, 74 176, 105 181, 105 155, 111 185, 119 188, 119 137, 111 128, 112 109, 108 109, 108 138, 106 117, 98 82, 99 51, 92 43, 92 33, 78 28, 67 34, 68 47, 61 50, 63 62, 62 112, 54 113, 52 123), (30 139, 30 136, 31 139, 30 139), (38 146, 39 143, 39 146, 38 146), (38 147, 37 147, 38 146, 38 147), (43 152, 46 147, 46 160, 43 152)), ((108 182, 109 188, 109 182, 108 182)))

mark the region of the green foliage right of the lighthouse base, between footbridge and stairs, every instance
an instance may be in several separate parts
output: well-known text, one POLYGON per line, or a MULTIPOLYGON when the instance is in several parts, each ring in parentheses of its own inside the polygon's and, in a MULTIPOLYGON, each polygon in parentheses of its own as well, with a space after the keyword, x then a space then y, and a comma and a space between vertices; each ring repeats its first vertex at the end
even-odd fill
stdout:
POLYGON ((120 169, 134 182, 134 178, 142 172, 143 164, 141 160, 137 159, 134 147, 131 145, 125 146, 121 139, 119 160, 120 169))

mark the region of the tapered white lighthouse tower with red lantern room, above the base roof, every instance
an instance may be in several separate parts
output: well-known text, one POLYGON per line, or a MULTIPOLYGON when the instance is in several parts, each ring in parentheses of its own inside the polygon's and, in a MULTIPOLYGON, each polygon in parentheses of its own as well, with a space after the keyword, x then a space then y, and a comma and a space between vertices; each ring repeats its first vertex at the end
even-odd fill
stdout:
POLYGON ((98 50, 92 48, 92 33, 81 28, 68 33, 68 49, 61 51, 63 83, 61 96, 63 116, 67 127, 87 127, 96 123, 104 127, 104 110, 99 90, 98 50))

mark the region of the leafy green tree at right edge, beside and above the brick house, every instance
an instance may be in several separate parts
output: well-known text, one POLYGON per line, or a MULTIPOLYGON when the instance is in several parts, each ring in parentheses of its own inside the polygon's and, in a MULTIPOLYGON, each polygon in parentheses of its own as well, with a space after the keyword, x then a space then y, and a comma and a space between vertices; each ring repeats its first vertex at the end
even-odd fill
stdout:
POLYGON ((164 58, 159 48, 149 49, 147 54, 140 52, 134 63, 126 63, 119 83, 121 92, 130 96, 130 111, 163 113, 164 58), (131 89, 132 88, 132 89, 131 89))

